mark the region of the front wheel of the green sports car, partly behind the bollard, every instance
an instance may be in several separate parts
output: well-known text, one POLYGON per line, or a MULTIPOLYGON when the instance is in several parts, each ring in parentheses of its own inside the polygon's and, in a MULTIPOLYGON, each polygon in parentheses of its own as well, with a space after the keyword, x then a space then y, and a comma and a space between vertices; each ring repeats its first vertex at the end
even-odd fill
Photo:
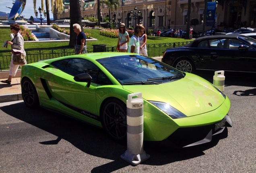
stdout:
POLYGON ((126 139, 126 105, 122 101, 110 99, 104 103, 101 118, 104 129, 112 139, 116 141, 126 139))

